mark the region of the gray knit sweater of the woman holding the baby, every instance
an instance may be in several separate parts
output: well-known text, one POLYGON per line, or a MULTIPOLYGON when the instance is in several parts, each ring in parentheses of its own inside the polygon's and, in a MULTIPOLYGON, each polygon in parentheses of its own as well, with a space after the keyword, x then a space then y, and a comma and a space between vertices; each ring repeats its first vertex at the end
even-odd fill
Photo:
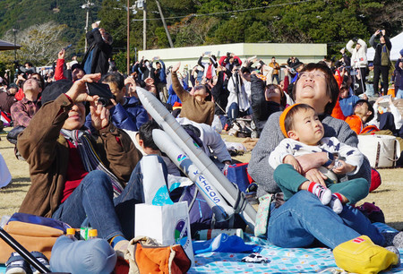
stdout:
MULTIPOLYGON (((276 148, 281 140, 284 139, 283 133, 279 128, 279 116, 281 112, 272 114, 264 126, 260 140, 252 150, 252 158, 249 162, 248 172, 253 180, 259 184, 258 197, 266 193, 279 193, 279 186, 273 179, 274 169, 269 165, 269 156, 272 150, 276 148)), ((324 137, 336 137, 340 142, 356 147, 358 138, 356 133, 353 132, 348 124, 342 120, 333 118, 331 116, 324 116, 322 124, 324 126, 324 137)), ((362 177, 371 184, 371 166, 366 157, 358 173, 354 176, 341 179, 353 179, 362 177)))

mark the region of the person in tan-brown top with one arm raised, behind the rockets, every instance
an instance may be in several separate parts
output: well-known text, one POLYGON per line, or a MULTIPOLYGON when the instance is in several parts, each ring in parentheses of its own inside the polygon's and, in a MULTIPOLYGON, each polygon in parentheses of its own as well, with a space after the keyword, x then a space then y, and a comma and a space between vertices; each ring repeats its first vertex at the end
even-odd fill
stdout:
POLYGON ((206 86, 196 86, 193 88, 193 95, 189 94, 179 82, 177 71, 181 63, 177 63, 172 68, 172 86, 176 95, 181 99, 181 117, 186 117, 196 123, 211 125, 214 119, 214 103, 211 102, 210 91, 206 86))

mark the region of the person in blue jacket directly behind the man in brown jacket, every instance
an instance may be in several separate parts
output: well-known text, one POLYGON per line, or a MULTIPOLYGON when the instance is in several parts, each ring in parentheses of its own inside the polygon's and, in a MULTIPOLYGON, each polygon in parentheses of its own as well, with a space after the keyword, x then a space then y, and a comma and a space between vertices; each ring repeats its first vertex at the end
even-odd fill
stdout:
MULTIPOLYGON (((112 123, 119 129, 139 131, 141 124, 149 120, 149 115, 138 98, 125 97, 124 76, 121 73, 107 73, 101 81, 109 86, 115 96, 115 99, 111 99, 114 107, 109 109, 112 123)), ((93 132, 90 115, 86 117, 85 125, 93 132)))

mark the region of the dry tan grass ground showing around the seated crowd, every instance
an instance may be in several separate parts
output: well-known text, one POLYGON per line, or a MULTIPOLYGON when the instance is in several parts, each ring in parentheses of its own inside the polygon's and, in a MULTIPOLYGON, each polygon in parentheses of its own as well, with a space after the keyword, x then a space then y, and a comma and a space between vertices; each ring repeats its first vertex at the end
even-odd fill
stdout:
MULTIPOLYGON (((5 130, 10 130, 6 128, 5 130)), ((0 218, 4 215, 12 215, 18 211, 21 201, 30 188, 30 175, 28 164, 14 157, 13 145, 5 139, 5 134, 0 134, 0 153, 13 176, 11 184, 0 190, 0 218)), ((227 141, 242 142, 244 138, 223 136, 227 141)), ((241 162, 248 162, 251 153, 234 157, 241 162)), ((379 169, 382 176, 382 185, 370 193, 364 201, 375 202, 379 206, 390 227, 398 230, 403 229, 403 168, 379 169)), ((362 201, 362 202, 364 202, 362 201)), ((361 202, 360 202, 361 204, 361 202)))

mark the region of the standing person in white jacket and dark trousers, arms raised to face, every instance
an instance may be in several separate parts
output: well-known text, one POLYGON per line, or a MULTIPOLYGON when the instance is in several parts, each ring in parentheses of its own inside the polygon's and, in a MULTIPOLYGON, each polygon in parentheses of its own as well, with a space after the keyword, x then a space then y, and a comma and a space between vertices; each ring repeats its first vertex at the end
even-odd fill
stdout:
POLYGON ((363 39, 354 38, 348 41, 346 48, 351 53, 351 67, 354 70, 359 70, 359 75, 355 76, 356 83, 360 85, 359 92, 357 93, 364 93, 366 65, 368 64, 366 59, 366 43, 363 39), (356 43, 356 47, 353 48, 354 43, 356 43))

